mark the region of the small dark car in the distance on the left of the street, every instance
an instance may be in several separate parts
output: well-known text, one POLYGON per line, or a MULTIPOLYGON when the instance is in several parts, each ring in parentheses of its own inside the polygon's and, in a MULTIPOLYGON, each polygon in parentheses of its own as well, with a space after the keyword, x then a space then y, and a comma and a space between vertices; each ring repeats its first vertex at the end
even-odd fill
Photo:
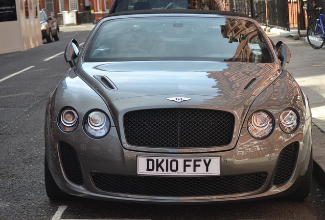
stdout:
POLYGON ((58 41, 60 39, 59 35, 59 25, 54 16, 46 10, 42 9, 39 12, 40 24, 42 31, 42 39, 46 39, 48 43, 51 43, 54 40, 58 41))

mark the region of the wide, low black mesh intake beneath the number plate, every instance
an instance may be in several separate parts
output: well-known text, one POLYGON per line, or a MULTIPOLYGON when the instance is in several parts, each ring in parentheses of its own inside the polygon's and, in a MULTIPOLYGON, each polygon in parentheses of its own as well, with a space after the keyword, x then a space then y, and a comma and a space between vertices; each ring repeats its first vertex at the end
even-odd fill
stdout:
POLYGON ((248 193, 262 188, 266 173, 215 177, 144 177, 91 173, 99 190, 139 196, 192 197, 248 193))

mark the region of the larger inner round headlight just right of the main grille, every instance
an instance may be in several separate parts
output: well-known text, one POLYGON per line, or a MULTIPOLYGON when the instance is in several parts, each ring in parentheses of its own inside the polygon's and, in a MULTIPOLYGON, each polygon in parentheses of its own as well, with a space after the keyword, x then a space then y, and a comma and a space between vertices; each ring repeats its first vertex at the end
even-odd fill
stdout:
POLYGON ((264 139, 271 134, 274 127, 272 117, 263 111, 253 113, 248 119, 248 132, 256 139, 264 139))

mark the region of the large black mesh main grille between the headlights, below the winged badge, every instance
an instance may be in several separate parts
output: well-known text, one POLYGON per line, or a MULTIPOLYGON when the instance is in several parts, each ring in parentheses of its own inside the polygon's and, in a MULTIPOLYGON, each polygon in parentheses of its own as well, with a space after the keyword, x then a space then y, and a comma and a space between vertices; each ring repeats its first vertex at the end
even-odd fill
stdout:
POLYGON ((124 116, 126 141, 142 147, 195 148, 228 145, 233 114, 207 109, 147 109, 124 116))

